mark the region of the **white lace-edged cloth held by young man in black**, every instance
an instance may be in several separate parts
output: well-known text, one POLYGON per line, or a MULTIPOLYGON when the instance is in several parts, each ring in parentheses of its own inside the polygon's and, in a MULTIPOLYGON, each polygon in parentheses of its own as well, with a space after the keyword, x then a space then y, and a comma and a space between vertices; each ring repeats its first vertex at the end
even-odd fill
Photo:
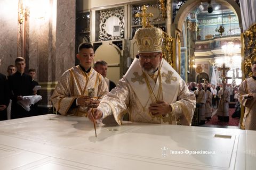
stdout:
POLYGON ((37 101, 42 100, 42 96, 23 96, 22 100, 18 100, 17 103, 23 107, 26 111, 30 111, 30 106, 37 103, 37 101))

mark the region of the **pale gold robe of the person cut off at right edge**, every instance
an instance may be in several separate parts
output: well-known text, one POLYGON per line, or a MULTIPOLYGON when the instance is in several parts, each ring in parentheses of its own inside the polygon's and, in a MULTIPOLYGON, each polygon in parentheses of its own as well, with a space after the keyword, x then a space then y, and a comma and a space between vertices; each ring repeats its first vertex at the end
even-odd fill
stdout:
POLYGON ((253 78, 242 82, 238 89, 238 100, 245 107, 242 125, 246 130, 256 130, 256 98, 247 98, 250 93, 256 93, 256 80, 253 78))

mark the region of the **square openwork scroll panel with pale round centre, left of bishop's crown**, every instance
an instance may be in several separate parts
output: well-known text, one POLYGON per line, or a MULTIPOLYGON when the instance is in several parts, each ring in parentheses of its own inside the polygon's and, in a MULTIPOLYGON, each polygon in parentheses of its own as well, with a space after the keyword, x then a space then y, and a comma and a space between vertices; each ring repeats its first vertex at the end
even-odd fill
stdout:
POLYGON ((124 7, 99 11, 99 41, 124 39, 124 22, 124 7))

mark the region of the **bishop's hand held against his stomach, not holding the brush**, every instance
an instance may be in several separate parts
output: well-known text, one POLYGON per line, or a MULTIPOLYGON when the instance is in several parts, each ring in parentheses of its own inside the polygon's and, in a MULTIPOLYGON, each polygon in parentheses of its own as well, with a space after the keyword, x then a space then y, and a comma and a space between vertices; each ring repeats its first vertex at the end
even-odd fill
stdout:
POLYGON ((152 113, 152 115, 166 115, 167 113, 170 113, 172 111, 172 107, 167 103, 166 101, 159 100, 157 103, 151 103, 149 106, 149 112, 152 113))

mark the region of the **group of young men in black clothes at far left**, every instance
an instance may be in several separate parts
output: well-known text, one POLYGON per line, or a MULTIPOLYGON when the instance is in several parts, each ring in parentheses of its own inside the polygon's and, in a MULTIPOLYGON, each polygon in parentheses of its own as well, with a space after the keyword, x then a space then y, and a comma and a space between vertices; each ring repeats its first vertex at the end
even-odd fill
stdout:
POLYGON ((22 57, 17 57, 14 63, 15 65, 9 65, 7 67, 7 77, 4 74, 0 74, 1 121, 39 115, 37 105, 31 105, 30 110, 27 111, 18 104, 18 101, 23 100, 22 97, 24 96, 39 94, 39 90, 33 90, 35 86, 39 85, 34 80, 36 77, 36 70, 29 69, 28 73, 25 73, 26 61, 22 57))

